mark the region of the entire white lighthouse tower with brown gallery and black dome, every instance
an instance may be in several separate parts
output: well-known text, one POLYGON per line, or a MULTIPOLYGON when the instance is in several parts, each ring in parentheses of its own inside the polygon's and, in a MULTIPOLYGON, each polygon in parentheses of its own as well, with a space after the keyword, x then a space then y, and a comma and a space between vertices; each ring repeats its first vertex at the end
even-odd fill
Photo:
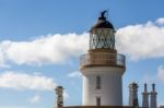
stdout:
POLYGON ((125 56, 115 48, 115 28, 101 12, 90 29, 89 53, 81 56, 83 106, 122 106, 125 56))

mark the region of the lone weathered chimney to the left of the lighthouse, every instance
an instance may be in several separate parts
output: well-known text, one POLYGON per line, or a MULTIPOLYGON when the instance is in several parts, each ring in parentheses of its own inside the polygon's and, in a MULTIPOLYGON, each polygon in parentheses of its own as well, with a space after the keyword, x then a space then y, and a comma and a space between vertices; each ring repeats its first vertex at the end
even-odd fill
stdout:
POLYGON ((62 86, 57 86, 56 87, 56 95, 57 95, 57 108, 62 108, 63 107, 63 87, 62 86))

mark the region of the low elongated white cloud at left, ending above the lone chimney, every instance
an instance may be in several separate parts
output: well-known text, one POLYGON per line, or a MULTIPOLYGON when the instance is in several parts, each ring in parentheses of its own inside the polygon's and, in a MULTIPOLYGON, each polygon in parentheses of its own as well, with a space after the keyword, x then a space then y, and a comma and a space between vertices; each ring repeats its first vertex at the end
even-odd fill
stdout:
POLYGON ((0 87, 12 89, 54 91, 57 84, 44 75, 3 72, 0 74, 0 87))

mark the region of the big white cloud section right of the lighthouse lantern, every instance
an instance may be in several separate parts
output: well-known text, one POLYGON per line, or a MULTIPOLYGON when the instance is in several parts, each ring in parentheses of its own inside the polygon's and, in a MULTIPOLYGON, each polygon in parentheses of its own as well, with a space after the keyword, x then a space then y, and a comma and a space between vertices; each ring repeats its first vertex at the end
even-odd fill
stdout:
POLYGON ((155 22, 119 28, 116 41, 118 50, 133 60, 164 57, 164 26, 155 22))

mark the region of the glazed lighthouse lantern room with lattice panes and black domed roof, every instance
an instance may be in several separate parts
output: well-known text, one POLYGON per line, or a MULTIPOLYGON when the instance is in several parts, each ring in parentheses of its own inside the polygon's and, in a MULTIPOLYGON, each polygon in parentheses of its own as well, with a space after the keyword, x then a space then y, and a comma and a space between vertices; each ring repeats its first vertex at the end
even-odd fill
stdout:
POLYGON ((97 22, 90 29, 90 50, 115 49, 115 28, 106 20, 107 11, 101 12, 97 22))

